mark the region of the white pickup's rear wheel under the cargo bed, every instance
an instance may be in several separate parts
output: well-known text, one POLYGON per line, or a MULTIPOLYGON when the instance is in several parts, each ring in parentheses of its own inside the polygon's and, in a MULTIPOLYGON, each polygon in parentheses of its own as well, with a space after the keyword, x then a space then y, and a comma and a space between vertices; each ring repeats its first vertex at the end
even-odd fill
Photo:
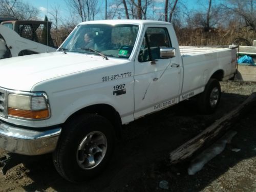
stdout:
POLYGON ((217 79, 209 79, 205 90, 197 98, 198 109, 201 113, 211 114, 217 109, 221 99, 221 86, 217 79))

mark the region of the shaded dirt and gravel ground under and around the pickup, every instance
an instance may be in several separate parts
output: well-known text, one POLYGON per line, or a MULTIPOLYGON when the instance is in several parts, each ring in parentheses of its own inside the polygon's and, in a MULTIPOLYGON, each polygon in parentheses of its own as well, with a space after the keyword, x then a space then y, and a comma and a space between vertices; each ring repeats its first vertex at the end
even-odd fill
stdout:
POLYGON ((221 86, 221 103, 213 115, 199 114, 192 99, 123 126, 111 162, 97 178, 69 183, 57 174, 47 155, 0 174, 0 191, 256 191, 255 107, 233 125, 238 133, 225 150, 197 174, 187 174, 189 162, 168 163, 171 151, 256 91, 256 83, 251 82, 226 81, 221 86), (159 187, 162 180, 169 189, 159 187))

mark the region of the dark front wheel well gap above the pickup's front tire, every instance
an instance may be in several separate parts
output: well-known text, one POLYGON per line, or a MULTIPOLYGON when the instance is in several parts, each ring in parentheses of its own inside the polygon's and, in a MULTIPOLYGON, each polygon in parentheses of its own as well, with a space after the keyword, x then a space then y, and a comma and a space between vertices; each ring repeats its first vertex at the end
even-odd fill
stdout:
POLYGON ((108 104, 95 104, 91 106, 87 106, 86 108, 83 108, 76 113, 72 114, 67 120, 70 120, 77 116, 78 114, 82 113, 90 113, 90 114, 98 114, 102 117, 105 117, 108 119, 111 124, 114 126, 114 130, 116 133, 116 136, 121 136, 121 126, 122 126, 122 121, 119 113, 111 106, 108 104))

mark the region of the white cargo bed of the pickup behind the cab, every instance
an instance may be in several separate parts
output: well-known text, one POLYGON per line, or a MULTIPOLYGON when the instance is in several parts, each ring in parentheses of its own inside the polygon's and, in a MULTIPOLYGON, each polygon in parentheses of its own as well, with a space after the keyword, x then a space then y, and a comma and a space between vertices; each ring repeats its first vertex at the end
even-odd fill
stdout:
POLYGON ((223 70, 223 80, 231 78, 236 71, 236 50, 180 46, 180 52, 184 67, 182 93, 189 93, 195 88, 203 91, 210 76, 218 70, 223 70))

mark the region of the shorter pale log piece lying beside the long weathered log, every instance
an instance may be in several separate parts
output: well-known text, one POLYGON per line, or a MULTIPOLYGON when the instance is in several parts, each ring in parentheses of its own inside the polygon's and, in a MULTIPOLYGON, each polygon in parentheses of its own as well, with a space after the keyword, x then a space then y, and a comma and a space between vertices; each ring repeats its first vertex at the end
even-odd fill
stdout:
POLYGON ((230 143, 233 136, 237 134, 236 131, 229 131, 220 140, 212 144, 205 151, 199 154, 195 159, 193 159, 187 169, 188 175, 195 175, 199 172, 203 166, 212 158, 219 155, 224 151, 226 144, 230 143))

